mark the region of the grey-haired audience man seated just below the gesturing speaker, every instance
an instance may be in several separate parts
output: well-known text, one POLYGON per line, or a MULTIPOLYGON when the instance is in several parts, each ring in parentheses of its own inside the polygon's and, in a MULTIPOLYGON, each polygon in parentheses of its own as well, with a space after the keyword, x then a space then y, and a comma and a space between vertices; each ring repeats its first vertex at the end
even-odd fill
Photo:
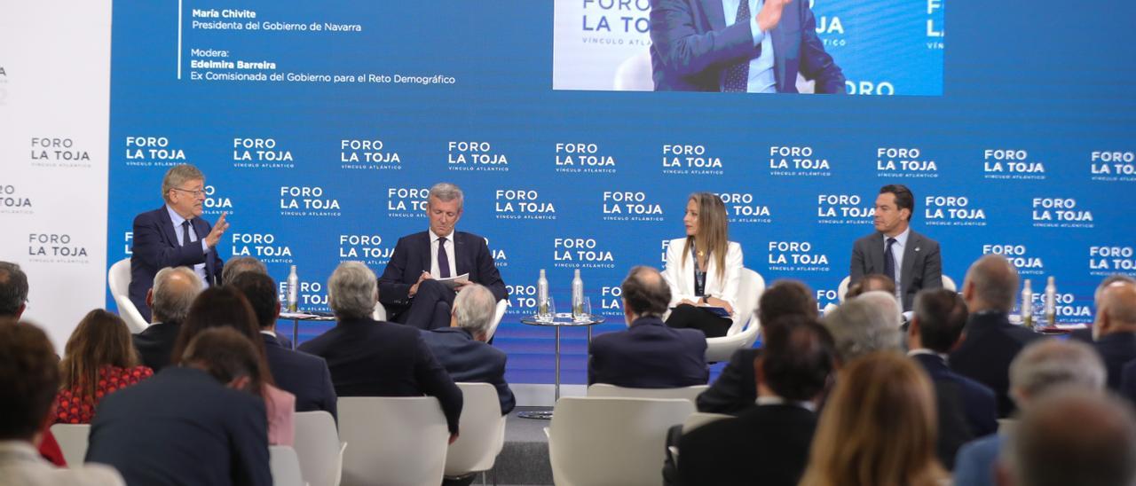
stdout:
POLYGON ((131 336, 142 364, 153 372, 169 364, 182 320, 190 313, 190 305, 199 293, 201 279, 189 267, 166 267, 153 276, 153 288, 145 294, 147 305, 153 309, 150 326, 131 336))

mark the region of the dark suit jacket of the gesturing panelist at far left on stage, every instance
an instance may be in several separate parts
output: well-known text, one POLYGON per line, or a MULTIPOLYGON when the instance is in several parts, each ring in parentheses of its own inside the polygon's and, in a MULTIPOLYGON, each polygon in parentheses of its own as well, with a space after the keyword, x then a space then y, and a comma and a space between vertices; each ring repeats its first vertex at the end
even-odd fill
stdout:
POLYGON ((131 302, 145 320, 150 320, 150 307, 145 304, 145 293, 153 286, 153 276, 166 267, 193 267, 206 265, 206 278, 210 285, 220 283, 224 262, 217 249, 201 251, 201 240, 212 231, 212 225, 203 218, 190 220, 198 234, 198 242, 182 246, 165 206, 143 212, 134 218, 134 248, 131 250, 131 302))

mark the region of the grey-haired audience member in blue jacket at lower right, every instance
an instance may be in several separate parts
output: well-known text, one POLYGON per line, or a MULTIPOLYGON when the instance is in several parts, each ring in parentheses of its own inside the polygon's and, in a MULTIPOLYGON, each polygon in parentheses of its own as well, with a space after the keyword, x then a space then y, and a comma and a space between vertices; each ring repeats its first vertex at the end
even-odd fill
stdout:
MULTIPOLYGON (((1079 341, 1034 342, 1010 364, 1010 396, 1024 411, 1033 408, 1038 397, 1056 388, 1076 387, 1081 393, 1100 394, 1104 391, 1104 362, 1092 346, 1079 341)), ((1005 430, 999 430, 963 445, 955 462, 955 483, 994 485, 994 464, 1005 441, 1005 430)))

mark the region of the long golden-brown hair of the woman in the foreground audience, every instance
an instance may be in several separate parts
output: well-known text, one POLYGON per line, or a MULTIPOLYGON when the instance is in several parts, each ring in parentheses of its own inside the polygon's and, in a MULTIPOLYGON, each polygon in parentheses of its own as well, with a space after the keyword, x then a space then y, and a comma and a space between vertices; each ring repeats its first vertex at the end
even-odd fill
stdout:
POLYGON ((853 360, 812 438, 801 486, 938 486, 935 391, 919 366, 894 352, 853 360))

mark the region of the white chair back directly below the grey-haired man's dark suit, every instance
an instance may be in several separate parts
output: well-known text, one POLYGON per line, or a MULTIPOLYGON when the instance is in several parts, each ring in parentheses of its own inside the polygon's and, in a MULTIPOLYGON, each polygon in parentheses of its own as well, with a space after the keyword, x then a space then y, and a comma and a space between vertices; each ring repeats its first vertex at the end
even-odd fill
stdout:
POLYGON ((433 396, 339 400, 345 485, 437 485, 450 431, 433 396))

